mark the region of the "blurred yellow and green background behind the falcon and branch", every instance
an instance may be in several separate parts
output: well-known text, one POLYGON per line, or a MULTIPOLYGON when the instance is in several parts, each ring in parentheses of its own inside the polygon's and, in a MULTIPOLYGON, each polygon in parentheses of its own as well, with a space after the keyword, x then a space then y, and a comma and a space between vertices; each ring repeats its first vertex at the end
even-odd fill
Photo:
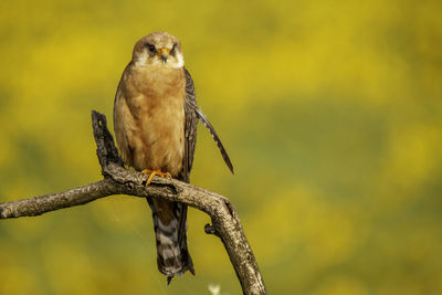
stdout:
MULTIPOLYGON (((3 0, 0 202, 101 179, 135 42, 178 36, 200 107, 192 183, 235 204, 270 294, 442 294, 441 1, 3 0)), ((166 286, 145 200, 0 222, 0 294, 241 294, 189 210, 166 286)))

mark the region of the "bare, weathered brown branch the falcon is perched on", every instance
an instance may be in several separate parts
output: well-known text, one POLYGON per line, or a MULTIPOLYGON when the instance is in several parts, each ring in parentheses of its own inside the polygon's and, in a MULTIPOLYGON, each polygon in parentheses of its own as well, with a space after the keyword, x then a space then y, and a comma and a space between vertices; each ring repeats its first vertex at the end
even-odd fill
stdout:
POLYGON ((0 219, 40 215, 113 194, 161 198, 182 202, 210 215, 212 225, 206 224, 204 230, 221 239, 243 293, 266 294, 264 281, 244 235, 236 210, 225 197, 176 179, 159 177, 154 177, 151 183, 146 187, 146 176, 124 168, 114 138, 107 129, 106 117, 93 110, 92 123, 104 179, 59 193, 0 203, 0 219))

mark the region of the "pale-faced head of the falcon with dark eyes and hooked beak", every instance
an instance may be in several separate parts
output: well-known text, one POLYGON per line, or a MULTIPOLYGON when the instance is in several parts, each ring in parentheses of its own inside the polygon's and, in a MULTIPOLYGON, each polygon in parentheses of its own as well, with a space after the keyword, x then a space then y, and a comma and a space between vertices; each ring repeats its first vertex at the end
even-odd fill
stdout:
POLYGON ((141 38, 134 46, 133 61, 138 66, 182 67, 181 43, 166 32, 154 32, 141 38))

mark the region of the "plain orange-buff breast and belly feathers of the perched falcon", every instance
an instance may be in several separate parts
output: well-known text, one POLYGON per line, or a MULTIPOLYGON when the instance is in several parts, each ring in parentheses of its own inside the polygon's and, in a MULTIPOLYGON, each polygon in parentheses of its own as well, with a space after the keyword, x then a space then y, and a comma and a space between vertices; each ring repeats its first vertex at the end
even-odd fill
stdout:
POLYGON ((137 73, 128 106, 134 118, 134 165, 177 177, 185 152, 185 88, 182 71, 137 73))

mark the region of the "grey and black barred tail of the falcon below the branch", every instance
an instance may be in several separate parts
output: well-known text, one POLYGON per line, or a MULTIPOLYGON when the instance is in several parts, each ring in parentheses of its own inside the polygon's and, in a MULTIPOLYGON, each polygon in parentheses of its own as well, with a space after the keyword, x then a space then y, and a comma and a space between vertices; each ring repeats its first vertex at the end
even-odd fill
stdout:
POLYGON ((167 275, 168 284, 176 274, 182 275, 186 271, 194 274, 187 249, 187 206, 150 198, 147 201, 152 211, 158 270, 167 275))

